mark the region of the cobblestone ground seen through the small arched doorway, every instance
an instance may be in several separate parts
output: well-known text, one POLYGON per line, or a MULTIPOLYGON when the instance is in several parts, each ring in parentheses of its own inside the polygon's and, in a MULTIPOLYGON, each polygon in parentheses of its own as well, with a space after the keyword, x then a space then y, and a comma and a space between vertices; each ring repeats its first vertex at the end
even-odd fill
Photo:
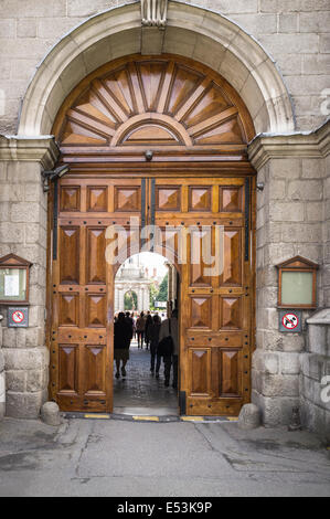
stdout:
POLYGON ((130 359, 126 366, 126 378, 115 378, 114 368, 114 411, 115 413, 151 412, 178 414, 177 391, 164 386, 163 364, 160 378, 150 373, 150 351, 138 349, 137 341, 130 347, 130 359))

